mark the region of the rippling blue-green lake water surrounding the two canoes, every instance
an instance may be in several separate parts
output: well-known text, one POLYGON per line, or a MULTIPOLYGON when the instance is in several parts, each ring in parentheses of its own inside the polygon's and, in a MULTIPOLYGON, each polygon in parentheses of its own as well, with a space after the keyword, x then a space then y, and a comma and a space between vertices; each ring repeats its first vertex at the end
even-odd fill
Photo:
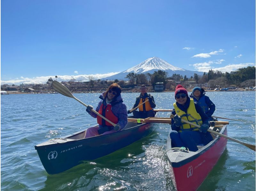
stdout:
MULTIPOLYGON (((173 109, 173 92, 152 95, 156 109, 173 109)), ((255 122, 255 92, 206 95, 216 105, 214 116, 255 122)), ((74 96, 94 108, 100 101, 99 94, 74 96)), ((122 96, 130 109, 139 93, 122 96)), ((60 174, 47 174, 34 146, 96 125, 85 109, 61 94, 1 95, 1 190, 174 190, 168 167, 160 165, 170 128, 167 124, 154 124, 156 130, 148 137, 108 156, 60 174)), ((169 117, 170 112, 157 115, 169 117)), ((228 136, 255 144, 255 123, 230 120, 228 136)), ((255 151, 228 140, 199 190, 255 190, 255 151)))

